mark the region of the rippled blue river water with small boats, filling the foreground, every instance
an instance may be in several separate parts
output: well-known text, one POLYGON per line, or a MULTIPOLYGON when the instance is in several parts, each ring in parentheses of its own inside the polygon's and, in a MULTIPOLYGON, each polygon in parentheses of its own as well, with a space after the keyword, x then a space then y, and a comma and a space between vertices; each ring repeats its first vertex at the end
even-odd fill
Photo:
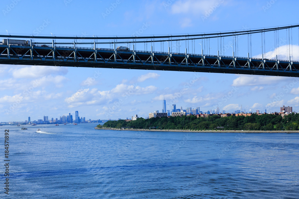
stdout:
POLYGON ((1 126, 0 198, 299 198, 299 134, 96 125, 1 126))

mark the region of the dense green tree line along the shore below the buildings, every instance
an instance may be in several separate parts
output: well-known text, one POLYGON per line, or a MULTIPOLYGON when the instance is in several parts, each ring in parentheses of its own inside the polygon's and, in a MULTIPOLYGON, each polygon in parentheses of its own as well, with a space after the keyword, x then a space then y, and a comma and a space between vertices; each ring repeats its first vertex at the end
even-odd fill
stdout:
POLYGON ((289 114, 284 118, 280 115, 252 114, 251 116, 230 116, 221 117, 213 115, 209 117, 177 116, 177 117, 156 117, 150 119, 138 118, 126 122, 125 120, 107 121, 99 128, 138 128, 138 129, 177 129, 177 130, 260 130, 260 131, 281 131, 298 130, 299 114, 289 114), (219 128, 218 128, 219 129, 219 128))

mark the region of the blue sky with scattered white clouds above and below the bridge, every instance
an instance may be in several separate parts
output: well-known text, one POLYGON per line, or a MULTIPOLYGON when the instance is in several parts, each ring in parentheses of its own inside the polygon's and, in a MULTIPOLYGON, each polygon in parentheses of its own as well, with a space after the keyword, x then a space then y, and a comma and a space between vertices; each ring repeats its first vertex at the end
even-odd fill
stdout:
MULTIPOLYGON (((165 35, 253 29, 298 23, 298 5, 295 0, 4 0, 0 33, 120 36, 136 31, 165 35)), ((292 31, 292 56, 298 60, 298 28, 292 31)), ((280 59, 287 57, 284 35, 280 59)), ((272 37, 266 35, 268 58, 274 55, 272 37)), ((258 57, 260 35, 253 40, 252 55, 258 57)), ((198 43, 196 53, 200 53, 198 43)), ((211 54, 216 54, 217 45, 211 47, 211 54)), ((144 50, 144 45, 137 45, 138 49, 144 50)), ((160 51, 160 45, 155 50, 160 51)), ((246 36, 239 38, 239 50, 239 56, 247 56, 246 36)), ((225 51, 231 54, 231 48, 225 51)), ((161 111, 164 96, 167 109, 173 103, 183 108, 199 106, 201 111, 219 105, 226 112, 240 110, 241 105, 246 111, 267 112, 279 111, 282 105, 298 111, 299 106, 298 78, 289 77, 0 65, 0 78, 0 121, 4 122, 25 121, 28 116, 31 120, 44 115, 59 118, 75 111, 91 120, 147 117, 149 112, 161 111)))

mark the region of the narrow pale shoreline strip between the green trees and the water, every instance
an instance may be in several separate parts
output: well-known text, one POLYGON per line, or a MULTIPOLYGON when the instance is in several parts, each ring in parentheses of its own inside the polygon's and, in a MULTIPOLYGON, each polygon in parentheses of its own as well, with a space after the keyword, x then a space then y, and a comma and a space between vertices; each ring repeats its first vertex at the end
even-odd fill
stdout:
POLYGON ((299 131, 241 131, 241 130, 176 130, 176 129, 164 129, 164 130, 158 130, 158 129, 119 129, 119 128, 97 128, 94 127, 94 129, 98 130, 115 130, 115 131, 166 131, 166 132, 197 132, 197 133, 299 133, 299 131))

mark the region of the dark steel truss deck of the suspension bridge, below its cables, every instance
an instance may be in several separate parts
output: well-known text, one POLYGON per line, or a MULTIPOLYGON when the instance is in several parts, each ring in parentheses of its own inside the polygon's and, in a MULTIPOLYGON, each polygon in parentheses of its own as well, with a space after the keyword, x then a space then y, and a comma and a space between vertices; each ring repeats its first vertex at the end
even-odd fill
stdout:
POLYGON ((0 45, 0 64, 299 76, 299 62, 46 45, 0 45))

